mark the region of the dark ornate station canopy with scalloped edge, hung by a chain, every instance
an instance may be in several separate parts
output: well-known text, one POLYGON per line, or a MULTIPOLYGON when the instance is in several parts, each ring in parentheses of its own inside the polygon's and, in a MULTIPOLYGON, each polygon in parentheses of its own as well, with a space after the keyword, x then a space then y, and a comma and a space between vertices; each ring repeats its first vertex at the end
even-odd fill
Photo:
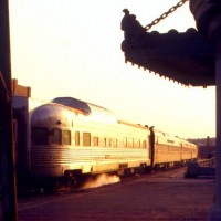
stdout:
POLYGON ((215 84, 214 45, 196 29, 147 32, 134 14, 127 14, 122 30, 126 62, 187 86, 215 84))

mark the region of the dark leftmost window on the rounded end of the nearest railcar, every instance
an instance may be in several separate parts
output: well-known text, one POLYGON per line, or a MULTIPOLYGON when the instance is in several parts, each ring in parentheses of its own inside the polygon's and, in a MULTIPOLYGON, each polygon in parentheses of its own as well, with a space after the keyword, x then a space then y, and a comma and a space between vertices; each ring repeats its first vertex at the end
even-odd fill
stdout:
POLYGON ((49 145, 49 130, 45 127, 32 127, 31 144, 49 145))

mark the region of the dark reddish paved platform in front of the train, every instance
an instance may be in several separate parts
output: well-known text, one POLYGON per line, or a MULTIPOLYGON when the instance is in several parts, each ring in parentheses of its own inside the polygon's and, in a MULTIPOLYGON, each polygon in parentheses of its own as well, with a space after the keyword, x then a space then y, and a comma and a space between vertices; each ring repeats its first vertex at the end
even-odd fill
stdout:
POLYGON ((19 221, 206 221, 214 180, 185 179, 182 173, 138 177, 78 193, 20 200, 19 221))

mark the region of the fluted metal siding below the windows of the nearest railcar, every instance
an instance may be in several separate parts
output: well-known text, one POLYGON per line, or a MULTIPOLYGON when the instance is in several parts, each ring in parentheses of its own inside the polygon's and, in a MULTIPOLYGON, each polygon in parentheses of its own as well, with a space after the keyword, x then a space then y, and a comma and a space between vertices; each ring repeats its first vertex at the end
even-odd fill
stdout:
MULTIPOLYGON (((91 165, 92 171, 96 172, 96 167, 103 166, 104 171, 107 164, 128 164, 129 165, 149 165, 149 155, 147 149, 128 148, 106 148, 106 147, 40 147, 31 150, 31 168, 34 170, 52 168, 55 166, 65 168, 80 168, 91 165), (94 168, 93 168, 94 167, 94 168)), ((99 169, 101 171, 101 169, 99 169)), ((62 172, 62 170, 61 170, 62 172)), ((61 173, 60 176, 62 176, 61 173)), ((53 176, 53 175, 52 175, 53 176)))

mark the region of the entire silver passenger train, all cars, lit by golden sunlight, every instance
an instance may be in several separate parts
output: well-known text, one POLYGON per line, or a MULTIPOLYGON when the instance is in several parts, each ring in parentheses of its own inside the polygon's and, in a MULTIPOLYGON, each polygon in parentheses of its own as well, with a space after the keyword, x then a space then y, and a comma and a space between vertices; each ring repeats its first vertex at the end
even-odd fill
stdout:
POLYGON ((72 97, 33 108, 29 120, 30 140, 25 148, 17 147, 18 172, 25 177, 128 173, 172 167, 198 156, 194 144, 118 120, 109 109, 72 97))

